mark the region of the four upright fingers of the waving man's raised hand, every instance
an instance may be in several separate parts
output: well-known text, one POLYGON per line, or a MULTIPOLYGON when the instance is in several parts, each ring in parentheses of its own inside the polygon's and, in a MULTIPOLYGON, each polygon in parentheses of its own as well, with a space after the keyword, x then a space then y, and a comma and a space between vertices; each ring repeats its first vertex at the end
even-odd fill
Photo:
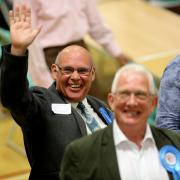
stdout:
POLYGON ((31 24, 31 9, 26 5, 17 6, 14 10, 9 11, 10 25, 16 22, 27 22, 31 24))

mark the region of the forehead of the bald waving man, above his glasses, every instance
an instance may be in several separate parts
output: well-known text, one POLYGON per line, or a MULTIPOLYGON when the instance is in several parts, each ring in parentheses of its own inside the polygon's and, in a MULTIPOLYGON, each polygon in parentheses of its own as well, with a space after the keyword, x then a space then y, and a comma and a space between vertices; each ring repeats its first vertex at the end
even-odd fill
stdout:
POLYGON ((64 51, 59 56, 59 64, 62 66, 90 66, 91 56, 82 49, 64 51))

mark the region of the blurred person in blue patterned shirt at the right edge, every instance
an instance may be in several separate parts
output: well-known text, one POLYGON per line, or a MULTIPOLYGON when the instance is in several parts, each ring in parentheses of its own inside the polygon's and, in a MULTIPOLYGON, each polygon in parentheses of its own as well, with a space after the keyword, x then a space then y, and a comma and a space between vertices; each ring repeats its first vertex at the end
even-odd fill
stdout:
POLYGON ((155 124, 180 133, 180 56, 165 68, 159 88, 155 124))

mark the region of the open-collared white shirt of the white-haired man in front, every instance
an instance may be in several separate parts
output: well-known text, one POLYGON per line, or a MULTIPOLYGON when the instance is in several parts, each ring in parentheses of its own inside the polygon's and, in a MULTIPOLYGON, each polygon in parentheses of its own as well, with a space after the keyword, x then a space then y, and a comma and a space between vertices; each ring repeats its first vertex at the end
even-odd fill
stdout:
POLYGON ((141 143, 141 149, 127 139, 113 121, 113 138, 122 180, 168 180, 166 170, 160 164, 159 152, 149 125, 141 143))

